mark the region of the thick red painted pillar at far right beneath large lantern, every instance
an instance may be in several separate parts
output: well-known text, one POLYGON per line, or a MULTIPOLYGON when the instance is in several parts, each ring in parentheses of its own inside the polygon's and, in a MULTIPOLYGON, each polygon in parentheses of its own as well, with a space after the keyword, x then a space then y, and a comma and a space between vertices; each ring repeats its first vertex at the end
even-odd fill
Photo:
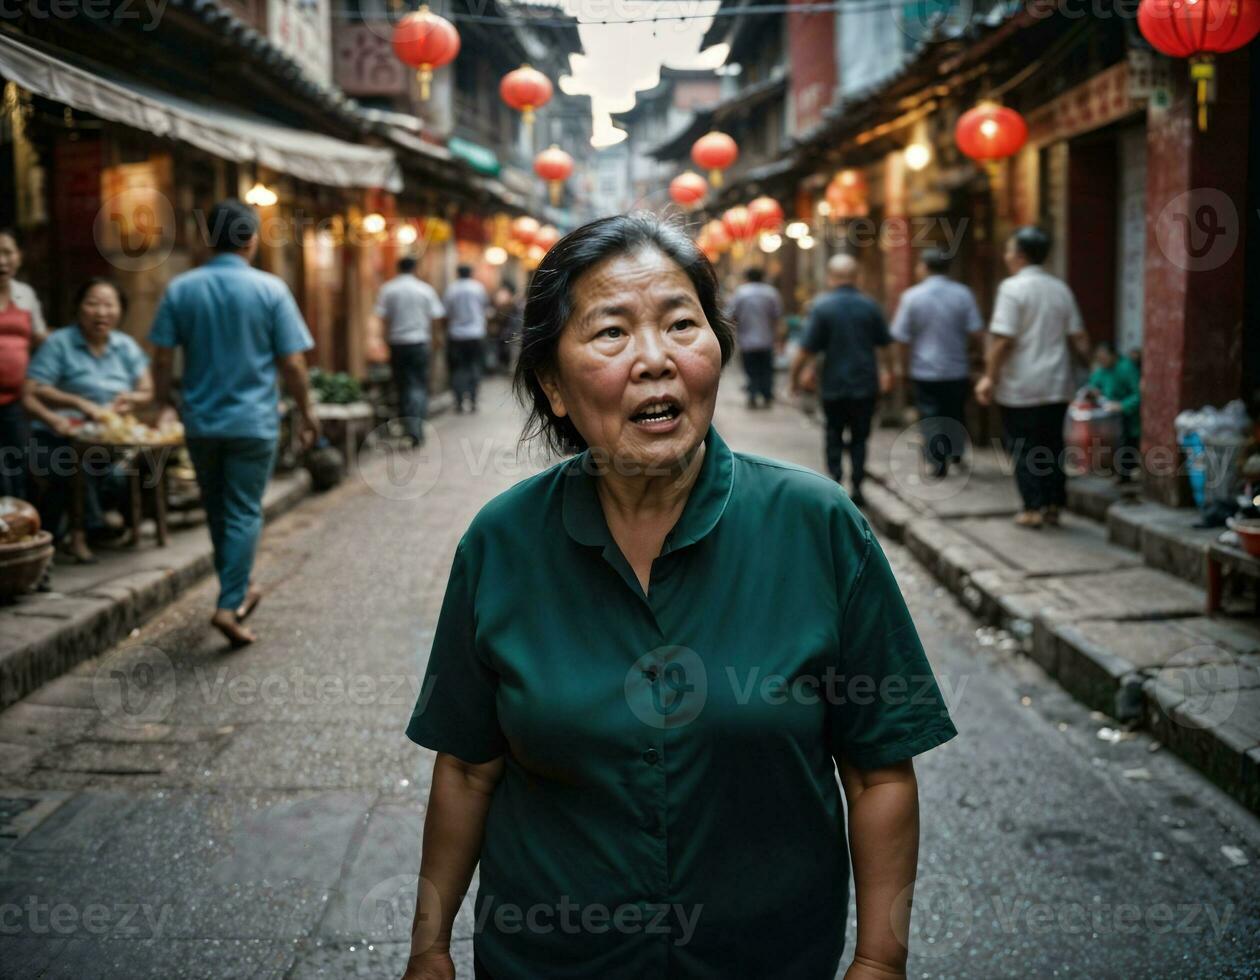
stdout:
POLYGON ((1217 101, 1198 132, 1184 62, 1147 120, 1147 288, 1142 443, 1148 495, 1183 504, 1173 419, 1241 394, 1247 54, 1217 59, 1217 101))

